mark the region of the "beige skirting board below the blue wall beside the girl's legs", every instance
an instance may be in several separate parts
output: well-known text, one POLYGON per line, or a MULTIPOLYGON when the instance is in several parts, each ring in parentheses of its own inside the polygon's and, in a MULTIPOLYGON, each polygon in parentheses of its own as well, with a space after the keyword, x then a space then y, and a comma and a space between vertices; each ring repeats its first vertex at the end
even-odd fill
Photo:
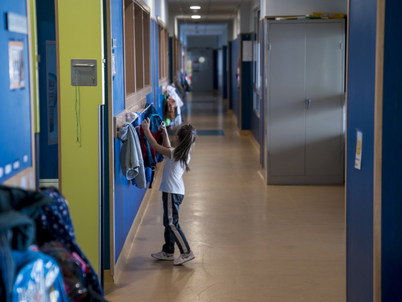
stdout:
MULTIPOLYGON (((162 172, 163 172, 163 167, 165 166, 165 161, 159 163, 160 166, 158 166, 158 169, 155 171, 155 180, 153 182, 154 188, 151 190, 156 190, 157 188, 156 183, 160 183, 160 180, 162 178, 162 172)), ((122 273, 126 262, 127 258, 129 256, 131 246, 133 245, 134 238, 137 234, 138 227, 141 224, 142 218, 144 217, 145 210, 148 207, 148 201, 150 199, 150 195, 152 194, 152 191, 147 189, 147 192, 144 195, 144 198, 142 199, 140 208, 138 209, 137 215, 134 218, 133 224, 131 225, 129 234, 127 235, 126 241, 124 242, 123 249, 120 253, 119 258, 117 259, 116 265, 115 265, 115 274, 113 276, 113 282, 116 284, 117 280, 119 280, 120 274, 122 273)))

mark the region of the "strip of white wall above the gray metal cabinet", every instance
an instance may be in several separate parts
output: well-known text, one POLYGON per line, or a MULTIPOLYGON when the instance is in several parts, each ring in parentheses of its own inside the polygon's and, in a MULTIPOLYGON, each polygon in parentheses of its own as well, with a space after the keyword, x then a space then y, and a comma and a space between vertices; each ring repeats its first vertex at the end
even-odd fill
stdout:
POLYGON ((261 0, 263 16, 304 16, 313 12, 348 12, 347 0, 261 0))

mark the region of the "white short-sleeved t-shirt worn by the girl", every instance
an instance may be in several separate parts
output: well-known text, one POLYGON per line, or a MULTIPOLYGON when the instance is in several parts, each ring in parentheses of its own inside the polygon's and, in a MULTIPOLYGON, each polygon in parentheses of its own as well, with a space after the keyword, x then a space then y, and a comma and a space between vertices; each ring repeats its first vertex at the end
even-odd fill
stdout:
MULTIPOLYGON (((170 159, 166 157, 165 167, 163 168, 162 181, 160 183, 159 191, 166 193, 182 194, 184 195, 184 183, 181 176, 185 171, 185 165, 180 162, 174 162, 173 153, 174 149, 170 149, 170 159)), ((190 162, 190 155, 188 155, 187 165, 190 162)))

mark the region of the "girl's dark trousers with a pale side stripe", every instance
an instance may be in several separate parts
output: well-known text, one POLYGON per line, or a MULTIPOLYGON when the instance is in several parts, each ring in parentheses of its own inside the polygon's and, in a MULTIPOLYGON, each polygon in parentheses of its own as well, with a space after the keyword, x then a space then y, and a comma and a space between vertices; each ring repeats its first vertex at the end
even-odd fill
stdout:
POLYGON ((174 243, 180 250, 180 254, 189 253, 190 247, 179 225, 179 206, 184 195, 162 192, 163 200, 163 225, 165 226, 165 244, 162 251, 174 253, 174 243))

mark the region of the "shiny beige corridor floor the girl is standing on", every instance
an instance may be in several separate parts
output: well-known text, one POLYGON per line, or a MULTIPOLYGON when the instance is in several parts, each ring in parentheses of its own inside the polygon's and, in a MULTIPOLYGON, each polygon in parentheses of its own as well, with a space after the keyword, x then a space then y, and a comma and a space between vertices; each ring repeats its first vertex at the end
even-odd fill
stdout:
MULTIPOLYGON (((345 301, 343 186, 267 186, 259 151, 240 136, 227 104, 189 95, 185 121, 198 136, 184 174, 180 225, 195 259, 150 257, 163 244, 160 175, 110 301, 345 301)), ((162 165, 161 165, 162 166, 162 165)), ((176 257, 178 251, 176 251, 176 257)))

